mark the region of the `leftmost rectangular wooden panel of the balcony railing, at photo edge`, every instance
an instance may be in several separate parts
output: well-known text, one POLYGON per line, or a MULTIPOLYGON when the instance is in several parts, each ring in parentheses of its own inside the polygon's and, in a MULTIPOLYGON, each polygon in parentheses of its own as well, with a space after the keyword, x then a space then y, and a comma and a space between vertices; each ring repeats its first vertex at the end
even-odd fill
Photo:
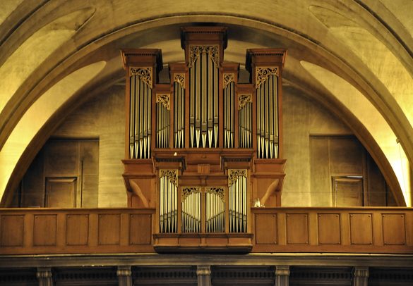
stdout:
POLYGON ((0 246, 23 247, 24 216, 1 216, 0 246))

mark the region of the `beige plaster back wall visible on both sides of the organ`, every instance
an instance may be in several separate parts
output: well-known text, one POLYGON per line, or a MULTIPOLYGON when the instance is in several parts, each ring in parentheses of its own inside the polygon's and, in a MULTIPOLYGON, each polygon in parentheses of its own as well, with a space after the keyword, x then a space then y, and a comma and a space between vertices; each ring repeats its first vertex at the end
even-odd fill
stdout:
MULTIPOLYGON (((286 86, 283 94, 286 177, 283 206, 316 206, 311 195, 310 135, 351 135, 347 126, 318 102, 286 86)), ((103 92, 66 118, 55 137, 99 137, 99 206, 126 206, 121 174, 124 158, 124 86, 103 92)), ((325 192, 325 195, 329 195, 325 192)))

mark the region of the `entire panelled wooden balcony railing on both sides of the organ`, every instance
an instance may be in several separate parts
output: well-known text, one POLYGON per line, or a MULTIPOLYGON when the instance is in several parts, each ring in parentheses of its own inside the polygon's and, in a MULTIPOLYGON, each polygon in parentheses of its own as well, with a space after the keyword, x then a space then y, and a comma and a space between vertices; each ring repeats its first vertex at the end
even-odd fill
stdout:
MULTIPOLYGON (((155 209, 0 209, 0 254, 155 252, 154 216, 155 209)), ((413 254, 411 208, 251 208, 251 218, 252 252, 413 254)))

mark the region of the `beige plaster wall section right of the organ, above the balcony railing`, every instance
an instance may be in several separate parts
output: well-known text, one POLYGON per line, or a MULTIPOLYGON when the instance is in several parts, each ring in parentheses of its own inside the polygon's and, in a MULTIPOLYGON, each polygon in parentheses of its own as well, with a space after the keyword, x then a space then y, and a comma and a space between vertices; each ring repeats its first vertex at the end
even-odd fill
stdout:
POLYGON ((313 206, 311 201, 310 135, 352 132, 318 102, 293 87, 283 87, 284 155, 287 158, 282 206, 313 206))

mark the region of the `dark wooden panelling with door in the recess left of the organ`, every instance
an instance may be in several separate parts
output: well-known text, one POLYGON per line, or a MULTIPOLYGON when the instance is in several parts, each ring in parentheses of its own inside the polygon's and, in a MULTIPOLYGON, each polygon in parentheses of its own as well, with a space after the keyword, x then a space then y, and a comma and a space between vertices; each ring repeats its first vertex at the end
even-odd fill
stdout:
POLYGON ((21 206, 96 207, 99 140, 51 139, 22 180, 21 206))

